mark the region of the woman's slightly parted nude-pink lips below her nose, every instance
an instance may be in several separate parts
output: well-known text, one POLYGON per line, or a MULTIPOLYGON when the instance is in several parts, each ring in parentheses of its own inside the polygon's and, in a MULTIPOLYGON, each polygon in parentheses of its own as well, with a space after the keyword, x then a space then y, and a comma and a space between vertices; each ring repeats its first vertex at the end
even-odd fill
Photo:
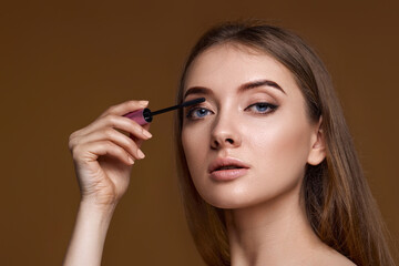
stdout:
POLYGON ((229 181, 247 173, 249 165, 233 157, 218 157, 209 164, 208 173, 217 181, 229 181))

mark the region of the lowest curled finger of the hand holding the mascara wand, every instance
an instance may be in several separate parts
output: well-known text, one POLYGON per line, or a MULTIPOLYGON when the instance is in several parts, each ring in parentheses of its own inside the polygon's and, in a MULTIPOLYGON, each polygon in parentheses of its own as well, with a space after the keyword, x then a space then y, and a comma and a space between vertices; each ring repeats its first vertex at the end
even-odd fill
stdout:
POLYGON ((79 145, 73 151, 73 158, 78 162, 94 162, 100 156, 110 155, 121 162, 132 165, 134 160, 129 153, 112 141, 96 141, 79 145))

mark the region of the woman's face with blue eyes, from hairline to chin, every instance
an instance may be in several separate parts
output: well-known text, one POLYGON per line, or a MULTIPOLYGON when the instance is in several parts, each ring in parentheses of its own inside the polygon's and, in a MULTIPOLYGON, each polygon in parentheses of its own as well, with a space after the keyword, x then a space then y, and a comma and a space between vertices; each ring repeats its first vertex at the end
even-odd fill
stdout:
POLYGON ((306 164, 324 158, 294 76, 265 53, 209 48, 192 63, 183 95, 206 99, 185 109, 182 142, 194 185, 213 206, 299 193, 306 164))

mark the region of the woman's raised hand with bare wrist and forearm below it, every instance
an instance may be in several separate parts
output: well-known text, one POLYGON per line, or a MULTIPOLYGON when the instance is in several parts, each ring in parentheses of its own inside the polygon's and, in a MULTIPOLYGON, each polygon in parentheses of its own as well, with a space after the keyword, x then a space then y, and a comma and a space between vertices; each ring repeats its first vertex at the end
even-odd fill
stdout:
POLYGON ((111 106, 93 123, 71 134, 69 147, 81 203, 64 266, 101 265, 111 217, 127 190, 134 161, 144 158, 142 142, 152 137, 150 124, 141 126, 123 114, 147 104, 127 101, 111 106))

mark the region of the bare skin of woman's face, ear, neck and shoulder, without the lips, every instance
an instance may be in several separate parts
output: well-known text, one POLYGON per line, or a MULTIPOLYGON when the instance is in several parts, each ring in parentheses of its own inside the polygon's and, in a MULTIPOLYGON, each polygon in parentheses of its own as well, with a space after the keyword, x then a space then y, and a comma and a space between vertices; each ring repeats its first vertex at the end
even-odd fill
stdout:
POLYGON ((221 44, 194 61, 185 94, 206 99, 186 109, 182 142, 196 190, 225 209, 232 265, 354 265, 306 217, 300 187, 306 164, 326 156, 323 120, 310 121, 288 69, 263 52, 221 44), (228 157, 249 168, 213 178, 212 162, 228 157))

